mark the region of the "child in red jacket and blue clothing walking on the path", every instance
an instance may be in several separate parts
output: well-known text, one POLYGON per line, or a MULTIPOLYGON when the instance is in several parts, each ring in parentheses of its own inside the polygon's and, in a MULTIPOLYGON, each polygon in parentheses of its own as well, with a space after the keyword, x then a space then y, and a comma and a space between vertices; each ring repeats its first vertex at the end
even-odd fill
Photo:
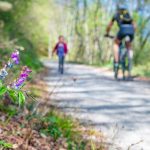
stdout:
POLYGON ((60 35, 58 38, 58 42, 55 45, 52 55, 56 52, 58 59, 59 59, 59 66, 58 71, 59 73, 63 74, 64 72, 64 60, 65 56, 68 52, 67 44, 65 43, 64 36, 60 35))

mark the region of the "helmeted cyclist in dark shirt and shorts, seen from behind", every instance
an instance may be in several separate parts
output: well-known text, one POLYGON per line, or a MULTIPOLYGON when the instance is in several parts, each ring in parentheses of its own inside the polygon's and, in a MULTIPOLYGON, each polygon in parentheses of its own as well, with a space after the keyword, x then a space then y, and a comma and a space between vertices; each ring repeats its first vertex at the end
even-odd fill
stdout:
MULTIPOLYGON (((119 68, 119 45, 121 44, 121 41, 125 37, 128 37, 127 42, 126 42, 126 48, 127 50, 129 50, 128 58, 131 60, 133 58, 133 51, 131 48, 131 43, 132 43, 132 40, 134 39, 135 24, 127 8, 123 5, 117 6, 117 11, 115 15, 113 16, 112 20, 110 21, 109 25, 107 26, 106 36, 109 36, 109 32, 114 22, 117 22, 118 27, 119 27, 119 31, 114 41, 114 61, 115 61, 114 69, 118 69, 119 68)), ((131 68, 132 68, 131 60, 128 61, 130 62, 129 77, 131 76, 131 68)))

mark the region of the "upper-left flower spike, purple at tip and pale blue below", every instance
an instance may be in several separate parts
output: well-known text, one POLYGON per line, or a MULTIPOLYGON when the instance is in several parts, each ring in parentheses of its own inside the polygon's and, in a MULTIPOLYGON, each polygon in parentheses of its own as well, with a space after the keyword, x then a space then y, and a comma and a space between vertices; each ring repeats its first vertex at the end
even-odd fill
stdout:
POLYGON ((0 70, 0 80, 4 80, 8 75, 8 69, 12 68, 13 65, 19 64, 19 51, 15 50, 10 57, 10 60, 7 64, 0 70))

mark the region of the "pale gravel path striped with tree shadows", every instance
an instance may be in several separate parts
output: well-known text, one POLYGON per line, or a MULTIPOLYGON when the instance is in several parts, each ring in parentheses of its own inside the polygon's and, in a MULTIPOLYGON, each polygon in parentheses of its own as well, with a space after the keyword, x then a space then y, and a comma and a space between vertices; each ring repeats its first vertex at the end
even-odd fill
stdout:
POLYGON ((59 75, 57 63, 45 65, 51 70, 45 77, 53 90, 50 103, 102 130, 122 150, 131 144, 131 150, 150 150, 150 83, 117 82, 104 69, 75 64, 59 75))

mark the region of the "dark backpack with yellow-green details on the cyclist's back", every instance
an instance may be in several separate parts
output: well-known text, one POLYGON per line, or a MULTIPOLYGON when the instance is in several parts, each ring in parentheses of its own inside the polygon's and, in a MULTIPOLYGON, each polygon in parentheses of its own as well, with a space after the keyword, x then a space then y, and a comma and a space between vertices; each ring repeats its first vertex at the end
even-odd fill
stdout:
POLYGON ((119 19, 121 24, 131 24, 132 23, 132 18, 126 9, 121 9, 119 11, 119 19))

